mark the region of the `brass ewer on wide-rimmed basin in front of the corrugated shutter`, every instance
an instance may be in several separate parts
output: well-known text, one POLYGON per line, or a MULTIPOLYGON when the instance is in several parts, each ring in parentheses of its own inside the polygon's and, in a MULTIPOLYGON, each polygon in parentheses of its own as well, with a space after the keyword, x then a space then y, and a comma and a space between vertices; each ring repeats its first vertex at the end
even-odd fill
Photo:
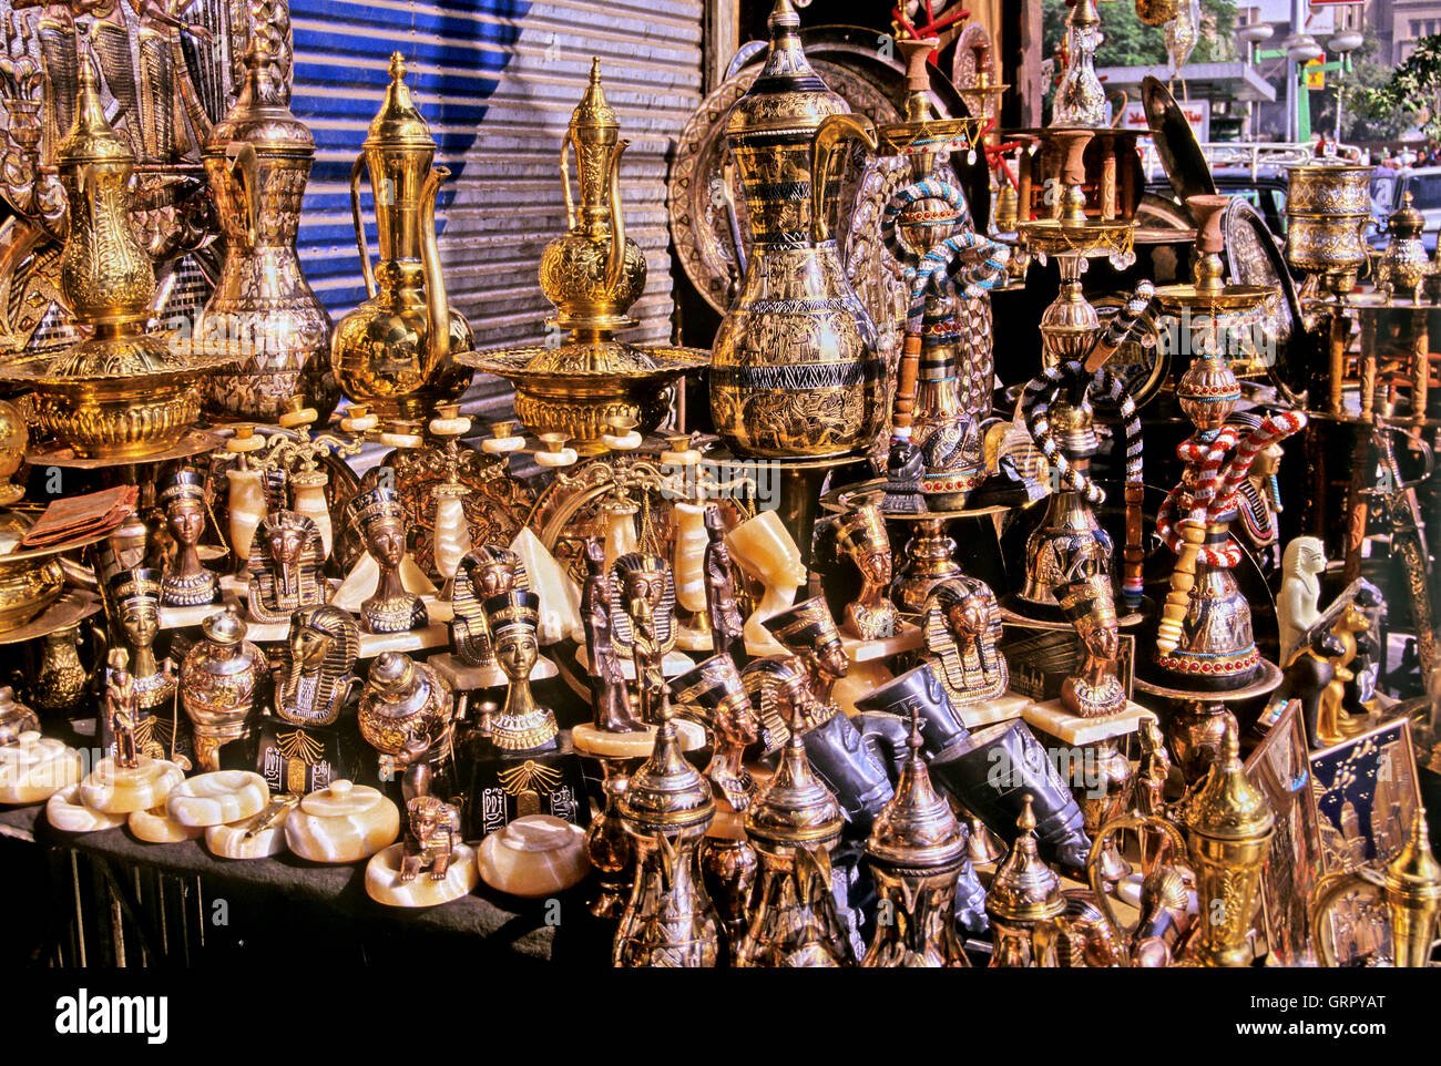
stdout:
POLYGON ((666 386, 710 362, 700 349, 641 347, 611 336, 635 324, 627 311, 646 288, 646 256, 625 236, 621 215, 621 156, 628 144, 620 138, 597 59, 561 144, 568 229, 540 256, 540 290, 556 308, 548 327, 558 343, 461 357, 516 386, 516 415, 532 432, 565 434, 581 452, 604 451, 601 438, 615 419, 641 434, 656 429, 670 406, 666 386), (571 194, 572 147, 579 207, 571 194))

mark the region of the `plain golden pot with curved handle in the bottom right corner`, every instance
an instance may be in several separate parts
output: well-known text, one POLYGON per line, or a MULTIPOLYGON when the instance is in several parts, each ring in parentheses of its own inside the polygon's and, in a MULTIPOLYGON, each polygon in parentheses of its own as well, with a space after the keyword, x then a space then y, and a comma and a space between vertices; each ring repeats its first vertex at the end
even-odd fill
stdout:
POLYGON ((1441 863, 1431 851, 1425 808, 1411 818, 1411 836, 1383 870, 1362 867, 1333 874, 1316 887, 1311 929, 1316 931, 1323 965, 1339 965, 1336 944, 1326 935, 1327 913, 1349 892, 1370 887, 1391 921, 1391 965, 1425 967, 1437 939, 1441 918, 1441 863))

